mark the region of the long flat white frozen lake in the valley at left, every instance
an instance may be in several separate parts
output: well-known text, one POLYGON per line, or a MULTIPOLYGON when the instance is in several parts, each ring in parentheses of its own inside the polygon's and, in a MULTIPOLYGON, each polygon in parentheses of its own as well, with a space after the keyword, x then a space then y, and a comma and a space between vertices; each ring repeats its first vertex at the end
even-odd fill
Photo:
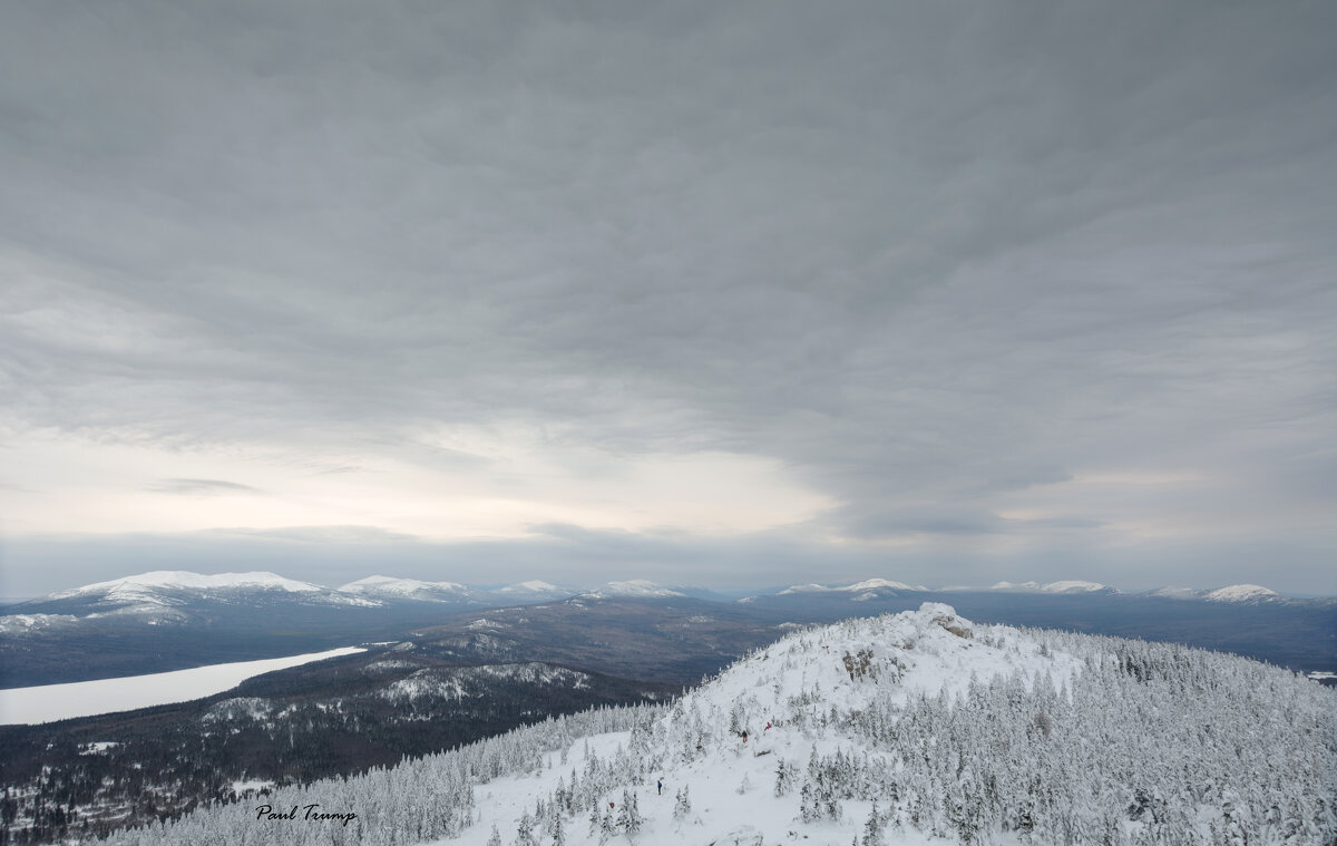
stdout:
POLYGON ((174 701, 190 701, 231 689, 254 676, 310 664, 340 655, 365 652, 361 647, 342 647, 326 652, 290 655, 282 659, 211 664, 147 676, 96 679, 70 684, 0 691, 0 724, 52 723, 76 716, 94 716, 116 711, 134 711, 174 701))

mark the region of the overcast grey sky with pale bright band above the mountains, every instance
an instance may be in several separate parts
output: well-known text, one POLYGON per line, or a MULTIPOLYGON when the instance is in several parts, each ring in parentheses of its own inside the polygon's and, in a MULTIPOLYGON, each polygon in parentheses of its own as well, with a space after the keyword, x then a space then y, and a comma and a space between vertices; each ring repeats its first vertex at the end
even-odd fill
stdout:
POLYGON ((0 594, 1337 593, 1337 4, 0 7, 0 594))

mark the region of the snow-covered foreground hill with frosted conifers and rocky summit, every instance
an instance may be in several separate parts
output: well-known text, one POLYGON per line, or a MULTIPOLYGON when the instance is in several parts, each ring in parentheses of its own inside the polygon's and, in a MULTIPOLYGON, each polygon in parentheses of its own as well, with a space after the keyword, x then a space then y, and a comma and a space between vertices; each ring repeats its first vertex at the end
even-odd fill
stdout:
MULTIPOLYGON (((332 846, 1280 846, 1337 837, 1334 790, 1333 691, 1233 656, 924 604, 797 630, 671 707, 550 720, 271 800, 357 809, 356 826, 299 841, 332 846)), ((111 842, 298 842, 249 813, 111 842)))

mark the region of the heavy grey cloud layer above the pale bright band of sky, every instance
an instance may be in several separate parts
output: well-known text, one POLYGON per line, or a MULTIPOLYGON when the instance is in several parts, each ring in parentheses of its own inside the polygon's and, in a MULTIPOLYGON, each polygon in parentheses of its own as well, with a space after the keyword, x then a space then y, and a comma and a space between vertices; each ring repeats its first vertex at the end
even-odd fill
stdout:
POLYGON ((1334 501, 1298 469, 1337 412, 1334 29, 1329 3, 8 4, 3 422, 449 471, 481 459, 402 432, 521 420, 554 452, 774 456, 860 538, 1015 535, 1020 494, 1170 467, 1247 481, 1250 542, 1330 549, 1280 523, 1334 501))

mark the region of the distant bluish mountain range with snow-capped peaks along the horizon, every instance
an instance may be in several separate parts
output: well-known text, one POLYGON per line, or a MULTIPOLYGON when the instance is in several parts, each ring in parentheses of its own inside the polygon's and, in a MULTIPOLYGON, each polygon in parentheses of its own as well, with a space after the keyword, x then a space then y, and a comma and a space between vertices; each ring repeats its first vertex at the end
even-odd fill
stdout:
POLYGON ((628 673, 630 664, 602 664, 579 647, 582 637, 591 636, 582 628, 588 618, 580 622, 580 617, 592 608, 611 614, 608 644, 652 648, 651 641, 627 640, 626 629, 635 628, 638 620, 644 624, 663 617, 666 628, 655 637, 667 637, 685 651, 679 657, 666 655, 664 667, 690 675, 765 643, 783 624, 900 612, 924 601, 951 602, 977 620, 1173 640, 1306 671, 1337 671, 1337 598, 1285 597, 1258 585, 1124 593, 1080 580, 931 589, 869 578, 771 588, 738 598, 646 580, 580 589, 547 581, 479 586, 370 576, 328 588, 274 573, 160 570, 0 608, 0 687, 278 657, 425 630, 457 632, 484 644, 479 647, 483 652, 492 649, 485 644, 500 644, 489 660, 501 653, 508 660, 579 655, 594 660, 591 667, 628 673), (519 639, 513 641, 496 632, 468 629, 491 620, 488 612, 507 608, 533 609, 521 617, 535 621, 529 626, 543 620, 543 634, 524 634, 524 624, 515 620, 505 620, 512 626, 507 637, 519 639), (707 629, 709 637, 703 633, 707 629))

